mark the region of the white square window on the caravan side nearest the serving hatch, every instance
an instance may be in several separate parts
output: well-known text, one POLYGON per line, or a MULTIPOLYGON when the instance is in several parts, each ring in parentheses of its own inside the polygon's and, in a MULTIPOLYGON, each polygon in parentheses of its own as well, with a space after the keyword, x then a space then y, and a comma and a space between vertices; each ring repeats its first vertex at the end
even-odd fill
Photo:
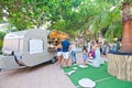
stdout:
POLYGON ((43 53, 44 51, 43 45, 44 45, 43 40, 30 40, 29 44, 30 54, 43 53))

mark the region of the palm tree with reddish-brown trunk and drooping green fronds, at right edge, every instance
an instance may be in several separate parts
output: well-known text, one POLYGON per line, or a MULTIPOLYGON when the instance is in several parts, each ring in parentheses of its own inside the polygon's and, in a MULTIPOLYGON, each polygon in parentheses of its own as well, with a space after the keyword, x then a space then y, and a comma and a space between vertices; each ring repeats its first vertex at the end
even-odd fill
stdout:
MULTIPOLYGON (((109 2, 106 0, 106 2, 109 2)), ((98 1, 101 7, 100 1, 98 1)), ((101 29, 107 28, 106 36, 109 38, 122 37, 121 41, 121 52, 132 53, 132 14, 131 14, 131 0, 114 1, 110 6, 103 9, 98 8, 103 11, 99 11, 99 15, 96 15, 94 22, 94 30, 96 33, 101 31, 101 29), (118 3, 117 3, 118 2, 118 3), (121 11, 122 10, 122 11, 121 11)))

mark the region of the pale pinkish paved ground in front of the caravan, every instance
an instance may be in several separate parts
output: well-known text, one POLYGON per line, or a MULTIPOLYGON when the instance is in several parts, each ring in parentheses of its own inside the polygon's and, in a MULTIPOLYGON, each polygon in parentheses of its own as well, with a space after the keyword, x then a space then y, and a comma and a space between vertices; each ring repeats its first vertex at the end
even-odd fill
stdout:
MULTIPOLYGON (((80 53, 77 63, 81 63, 80 53)), ((76 88, 57 63, 0 73, 0 88, 76 88)))

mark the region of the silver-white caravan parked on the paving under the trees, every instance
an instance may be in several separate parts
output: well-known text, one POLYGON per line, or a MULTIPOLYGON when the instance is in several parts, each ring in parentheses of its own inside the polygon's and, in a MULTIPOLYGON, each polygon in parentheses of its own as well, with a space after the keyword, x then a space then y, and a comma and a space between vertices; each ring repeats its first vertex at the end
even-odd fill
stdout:
POLYGON ((52 61, 55 62, 56 51, 48 50, 50 31, 34 29, 12 32, 4 36, 3 55, 0 56, 0 68, 13 69, 33 67, 52 61))

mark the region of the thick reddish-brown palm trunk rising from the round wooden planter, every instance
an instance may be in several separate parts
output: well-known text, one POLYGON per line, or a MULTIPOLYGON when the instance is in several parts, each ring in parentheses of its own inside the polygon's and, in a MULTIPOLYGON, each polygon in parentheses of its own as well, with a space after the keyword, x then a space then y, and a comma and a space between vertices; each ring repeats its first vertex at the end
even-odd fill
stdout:
POLYGON ((123 35, 121 41, 121 52, 132 53, 132 14, 131 3, 122 3, 123 35))

